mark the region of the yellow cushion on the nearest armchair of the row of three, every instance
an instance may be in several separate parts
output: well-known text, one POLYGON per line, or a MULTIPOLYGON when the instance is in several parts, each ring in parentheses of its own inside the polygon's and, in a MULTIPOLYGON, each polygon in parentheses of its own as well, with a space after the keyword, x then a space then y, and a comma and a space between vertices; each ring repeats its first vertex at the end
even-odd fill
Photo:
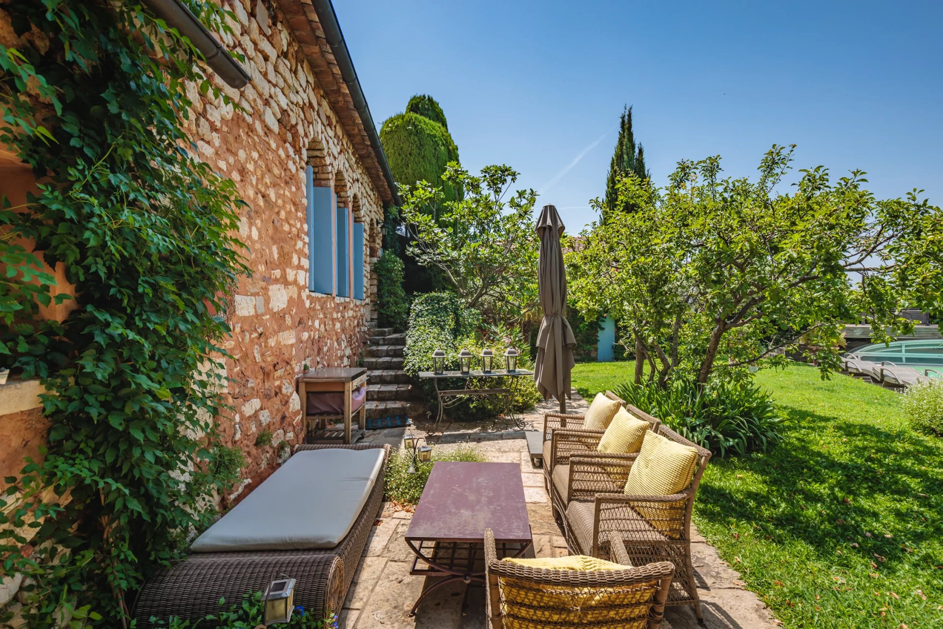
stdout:
MULTIPOLYGON (((648 431, 625 481, 625 493, 633 496, 670 496, 691 484, 698 465, 698 451, 648 431)), ((639 515, 654 529, 672 539, 685 527, 685 500, 672 503, 638 503, 639 515)))

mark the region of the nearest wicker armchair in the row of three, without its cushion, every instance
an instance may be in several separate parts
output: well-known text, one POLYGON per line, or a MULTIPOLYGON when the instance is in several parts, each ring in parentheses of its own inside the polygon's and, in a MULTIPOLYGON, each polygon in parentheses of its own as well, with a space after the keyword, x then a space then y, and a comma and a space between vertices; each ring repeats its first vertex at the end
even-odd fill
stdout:
POLYGON ((662 424, 658 433, 693 447, 698 467, 690 485, 670 496, 632 496, 622 489, 631 461, 608 456, 573 456, 570 459, 570 501, 564 513, 567 545, 574 553, 601 558, 616 556, 612 543, 620 538, 634 565, 670 561, 675 566, 667 605, 692 604, 703 620, 701 601, 691 565, 691 509, 711 453, 662 424))

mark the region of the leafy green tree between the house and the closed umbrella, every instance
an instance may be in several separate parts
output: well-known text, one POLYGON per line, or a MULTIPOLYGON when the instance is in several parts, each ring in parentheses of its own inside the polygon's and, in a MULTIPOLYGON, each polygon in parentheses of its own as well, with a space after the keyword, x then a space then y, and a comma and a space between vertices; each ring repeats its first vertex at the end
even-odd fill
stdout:
POLYGON ((464 196, 447 198, 425 181, 403 189, 403 218, 413 238, 409 255, 438 269, 464 306, 521 318, 537 303, 537 192, 518 190, 505 202, 518 178, 505 165, 473 176, 452 163, 442 178, 464 196))

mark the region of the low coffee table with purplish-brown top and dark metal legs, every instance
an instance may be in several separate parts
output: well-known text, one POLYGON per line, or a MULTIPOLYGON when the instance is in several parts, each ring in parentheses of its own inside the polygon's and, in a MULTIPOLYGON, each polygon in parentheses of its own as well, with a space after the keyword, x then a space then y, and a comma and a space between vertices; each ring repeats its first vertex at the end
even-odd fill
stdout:
POLYGON ((410 574, 445 578, 422 592, 410 616, 441 586, 485 582, 486 528, 494 531, 499 555, 521 556, 531 545, 520 464, 438 461, 405 540, 416 554, 410 574))

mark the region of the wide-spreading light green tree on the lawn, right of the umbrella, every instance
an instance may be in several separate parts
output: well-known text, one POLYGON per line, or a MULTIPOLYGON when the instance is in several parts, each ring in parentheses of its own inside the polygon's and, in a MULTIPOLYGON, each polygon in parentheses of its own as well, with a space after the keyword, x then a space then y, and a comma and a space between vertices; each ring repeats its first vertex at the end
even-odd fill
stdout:
POLYGON ((824 375, 840 367, 844 323, 890 340, 913 327, 904 307, 933 299, 914 278, 938 273, 921 254, 943 237, 940 209, 917 191, 875 199, 864 173, 833 182, 821 166, 777 192, 793 149, 774 145, 755 181, 721 179, 720 157, 679 162, 664 189, 627 174, 619 201, 635 211, 594 223, 568 256, 578 306, 618 313, 662 386, 703 387, 782 350, 814 353, 824 375))

